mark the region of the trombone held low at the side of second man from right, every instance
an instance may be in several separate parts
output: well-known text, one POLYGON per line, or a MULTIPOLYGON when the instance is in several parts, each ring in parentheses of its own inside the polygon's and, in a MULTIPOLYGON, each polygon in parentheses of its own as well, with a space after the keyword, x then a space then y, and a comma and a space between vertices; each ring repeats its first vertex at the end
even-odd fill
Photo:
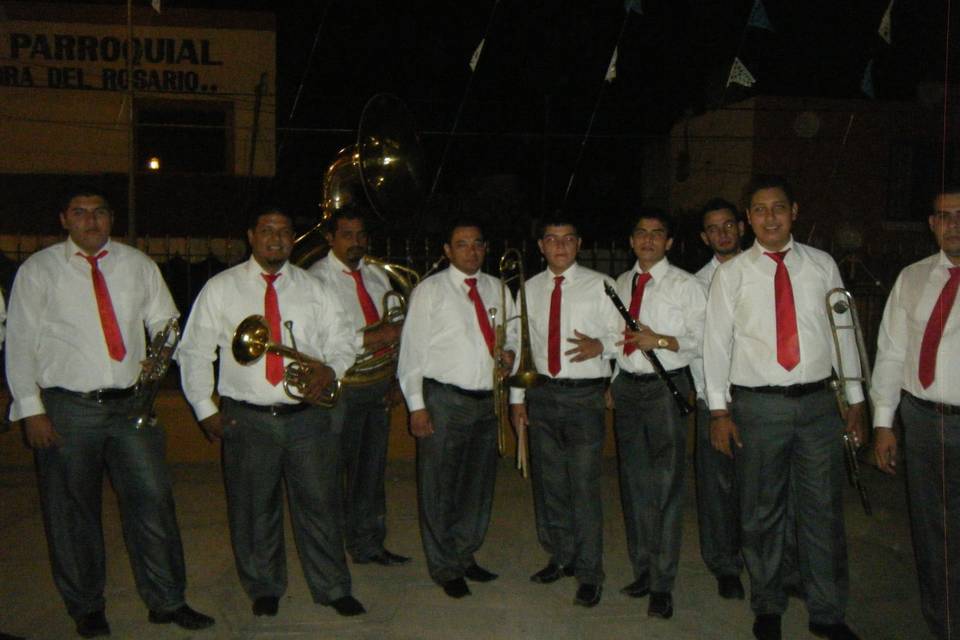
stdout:
MULTIPOLYGON (((864 397, 868 399, 870 397, 870 359, 867 356, 866 343, 863 339, 863 330, 860 328, 860 318, 857 315, 857 305, 853 299, 853 294, 846 289, 837 287, 827 292, 824 302, 827 306, 827 318, 830 320, 830 335, 833 336, 833 347, 837 354, 837 375, 834 380, 830 382, 830 386, 836 394, 840 415, 846 418, 847 410, 850 408, 845 392, 846 383, 860 382, 863 385, 864 397), (838 316, 846 320, 847 314, 849 314, 849 322, 841 323, 838 316), (851 372, 844 365, 843 350, 840 348, 840 331, 853 331, 857 345, 860 375, 850 375, 851 372)), ((869 419, 868 412, 868 422, 869 419)), ((867 495, 867 488, 860 481, 860 462, 857 457, 859 454, 859 444, 860 443, 855 442, 854 439, 850 437, 850 434, 846 432, 843 433, 843 452, 847 467, 847 480, 849 480, 850 486, 855 488, 857 493, 860 494, 860 504, 863 506, 864 513, 869 516, 872 515, 873 510, 870 508, 870 497, 867 495)))

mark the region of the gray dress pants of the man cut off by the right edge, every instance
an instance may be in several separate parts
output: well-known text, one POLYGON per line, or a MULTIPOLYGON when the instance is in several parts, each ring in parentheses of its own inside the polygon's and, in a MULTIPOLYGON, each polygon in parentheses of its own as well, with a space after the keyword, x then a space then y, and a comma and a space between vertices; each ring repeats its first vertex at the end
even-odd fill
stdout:
POLYGON ((900 402, 920 605, 937 638, 960 638, 960 415, 900 402))

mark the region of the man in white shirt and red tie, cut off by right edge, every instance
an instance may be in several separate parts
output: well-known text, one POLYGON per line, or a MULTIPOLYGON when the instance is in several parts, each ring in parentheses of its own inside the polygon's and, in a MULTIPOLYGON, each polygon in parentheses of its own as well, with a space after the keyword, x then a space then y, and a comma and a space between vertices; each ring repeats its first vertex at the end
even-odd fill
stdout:
POLYGON ((923 616, 960 638, 960 185, 934 199, 939 253, 904 269, 880 323, 870 393, 880 469, 896 469, 899 405, 923 616))

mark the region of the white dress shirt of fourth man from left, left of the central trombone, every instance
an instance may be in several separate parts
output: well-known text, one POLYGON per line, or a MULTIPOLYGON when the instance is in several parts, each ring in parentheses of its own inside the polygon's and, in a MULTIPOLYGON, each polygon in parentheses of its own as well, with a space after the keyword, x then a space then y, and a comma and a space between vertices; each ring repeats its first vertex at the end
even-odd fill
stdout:
MULTIPOLYGON (((477 279, 486 309, 497 310, 497 323, 516 316, 513 299, 500 302, 500 281, 486 273, 468 276, 454 266, 430 276, 414 289, 400 339, 397 378, 410 411, 424 408, 423 379, 473 391, 493 388, 493 358, 480 330, 476 307, 468 297, 467 278, 477 279)), ((518 323, 507 323, 504 350, 517 352, 518 323)))

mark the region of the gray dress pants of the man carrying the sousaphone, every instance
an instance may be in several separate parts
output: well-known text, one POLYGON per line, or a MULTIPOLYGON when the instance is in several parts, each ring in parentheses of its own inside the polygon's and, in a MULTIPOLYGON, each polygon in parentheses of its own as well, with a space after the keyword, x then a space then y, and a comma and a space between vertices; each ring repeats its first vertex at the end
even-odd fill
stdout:
POLYGON ((387 537, 384 472, 390 416, 385 403, 392 380, 347 385, 333 408, 333 428, 340 433, 344 481, 343 536, 347 553, 366 560, 383 552, 387 537))

